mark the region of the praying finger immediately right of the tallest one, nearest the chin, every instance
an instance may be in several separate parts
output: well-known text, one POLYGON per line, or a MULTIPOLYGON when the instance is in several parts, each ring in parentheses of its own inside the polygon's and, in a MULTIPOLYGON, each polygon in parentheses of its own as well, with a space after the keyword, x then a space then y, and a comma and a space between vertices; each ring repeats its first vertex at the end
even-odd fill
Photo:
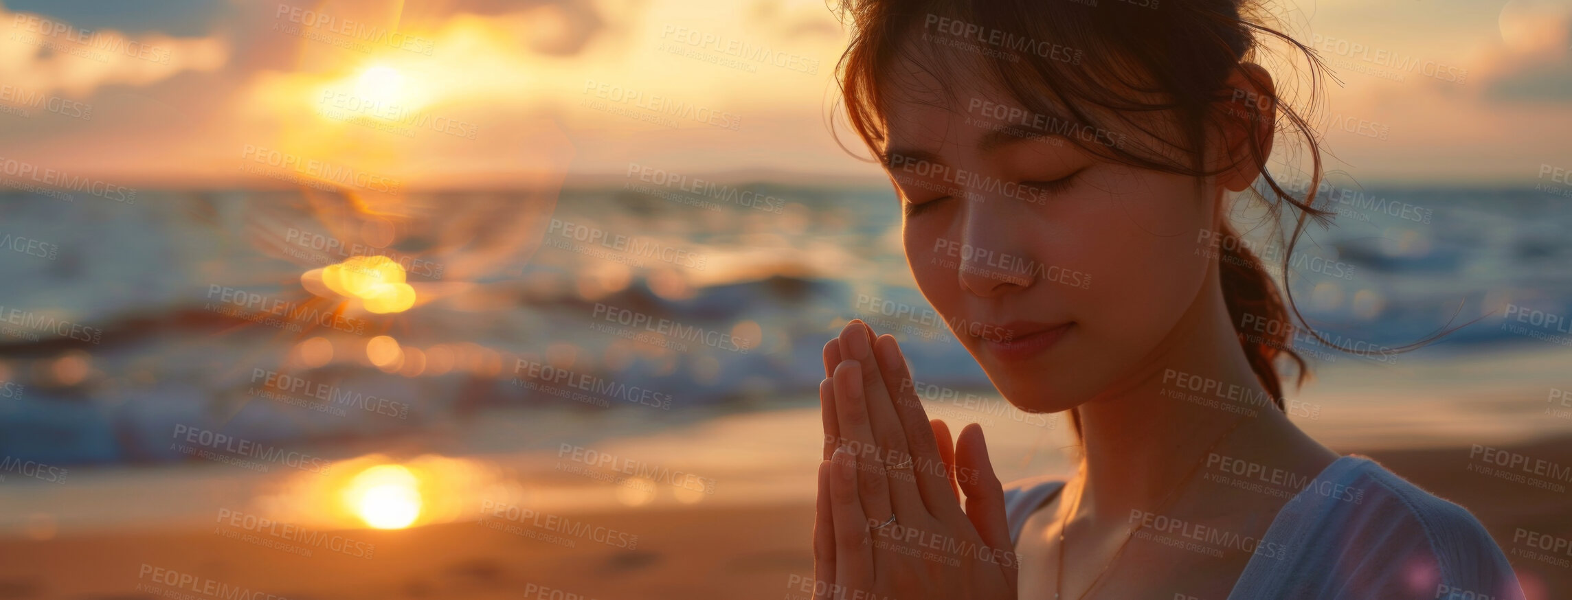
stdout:
POLYGON ((960 518, 954 470, 946 468, 945 459, 940 455, 938 440, 934 437, 932 424, 927 423, 923 401, 916 397, 916 383, 912 380, 910 369, 905 368, 901 344, 896 344, 894 336, 890 335, 879 336, 877 344, 880 377, 883 377, 887 390, 896 391, 896 401, 891 404, 901 419, 901 429, 905 432, 905 445, 912 452, 916 490, 923 496, 923 506, 934 517, 960 518))

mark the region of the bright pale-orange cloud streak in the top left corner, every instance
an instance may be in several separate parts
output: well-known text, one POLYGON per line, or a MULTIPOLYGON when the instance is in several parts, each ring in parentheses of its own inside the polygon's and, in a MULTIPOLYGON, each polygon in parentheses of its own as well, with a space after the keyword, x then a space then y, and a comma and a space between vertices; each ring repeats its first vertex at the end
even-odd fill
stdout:
POLYGON ((90 30, 0 8, 0 80, 35 94, 86 96, 104 85, 141 86, 182 71, 214 71, 230 57, 219 38, 171 38, 90 30))

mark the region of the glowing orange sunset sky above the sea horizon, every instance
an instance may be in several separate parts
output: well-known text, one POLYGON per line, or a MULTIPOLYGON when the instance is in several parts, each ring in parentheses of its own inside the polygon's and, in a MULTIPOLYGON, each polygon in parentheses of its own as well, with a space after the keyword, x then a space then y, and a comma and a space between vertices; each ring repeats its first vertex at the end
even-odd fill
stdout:
MULTIPOLYGON (((233 0, 203 35, 0 9, 0 176, 387 192, 641 165, 879 181, 825 126, 846 33, 821 0, 497 5, 233 0)), ((1572 168, 1572 2, 1280 13, 1342 80, 1319 115, 1333 168, 1530 187, 1542 165, 1572 168)))

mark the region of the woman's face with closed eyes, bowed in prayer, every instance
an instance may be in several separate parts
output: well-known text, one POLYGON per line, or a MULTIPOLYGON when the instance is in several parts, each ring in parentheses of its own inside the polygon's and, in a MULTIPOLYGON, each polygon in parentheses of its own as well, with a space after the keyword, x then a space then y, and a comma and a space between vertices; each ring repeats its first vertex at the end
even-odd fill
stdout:
POLYGON ((1220 196, 1210 182, 1196 188, 1188 176, 1023 137, 1023 124, 1063 121, 976 88, 953 91, 949 107, 891 90, 885 166, 902 196, 905 256, 1006 399, 1028 412, 1072 408, 1182 342, 1171 333, 1204 297, 1220 196))

